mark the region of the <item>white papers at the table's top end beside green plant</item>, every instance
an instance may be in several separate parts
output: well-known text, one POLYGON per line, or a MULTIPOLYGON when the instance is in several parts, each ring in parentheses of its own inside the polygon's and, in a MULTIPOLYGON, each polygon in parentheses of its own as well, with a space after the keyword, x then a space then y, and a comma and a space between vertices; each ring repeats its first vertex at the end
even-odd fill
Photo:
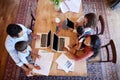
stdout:
POLYGON ((63 0, 60 4, 61 11, 66 13, 67 11, 79 13, 81 0, 63 0))

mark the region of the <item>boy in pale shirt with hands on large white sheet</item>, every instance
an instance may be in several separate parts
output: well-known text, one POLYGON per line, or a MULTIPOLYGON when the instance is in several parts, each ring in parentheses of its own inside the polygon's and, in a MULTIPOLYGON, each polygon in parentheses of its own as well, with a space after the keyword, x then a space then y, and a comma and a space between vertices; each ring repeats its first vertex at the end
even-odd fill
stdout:
MULTIPOLYGON (((33 68, 40 69, 39 66, 34 66, 34 60, 32 55, 39 58, 38 54, 32 52, 31 47, 28 45, 27 41, 19 41, 15 44, 15 49, 18 51, 19 59, 25 64, 25 66, 31 71, 33 68)), ((29 74, 29 73, 28 73, 29 74)))

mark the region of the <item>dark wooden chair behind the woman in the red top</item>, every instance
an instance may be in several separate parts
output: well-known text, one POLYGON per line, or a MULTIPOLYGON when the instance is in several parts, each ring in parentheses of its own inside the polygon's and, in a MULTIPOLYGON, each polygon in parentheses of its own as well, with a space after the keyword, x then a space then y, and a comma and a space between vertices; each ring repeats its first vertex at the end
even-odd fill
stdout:
POLYGON ((114 41, 110 40, 108 44, 101 46, 101 52, 95 58, 89 59, 88 62, 112 62, 116 64, 117 54, 114 41), (105 52, 102 52, 102 50, 105 52))

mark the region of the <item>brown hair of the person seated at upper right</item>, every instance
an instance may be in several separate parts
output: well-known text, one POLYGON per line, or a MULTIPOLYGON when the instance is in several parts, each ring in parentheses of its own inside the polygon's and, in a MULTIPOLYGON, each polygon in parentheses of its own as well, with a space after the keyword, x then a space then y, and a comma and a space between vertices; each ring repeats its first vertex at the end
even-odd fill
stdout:
POLYGON ((91 27, 94 29, 97 26, 97 16, 95 13, 88 13, 84 17, 88 19, 88 23, 85 27, 91 27))

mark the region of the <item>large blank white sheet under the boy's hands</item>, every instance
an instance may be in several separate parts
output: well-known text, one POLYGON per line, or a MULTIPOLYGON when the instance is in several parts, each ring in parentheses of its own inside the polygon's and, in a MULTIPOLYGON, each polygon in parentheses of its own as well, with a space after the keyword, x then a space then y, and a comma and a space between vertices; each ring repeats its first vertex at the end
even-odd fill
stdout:
POLYGON ((49 72, 50 72, 50 67, 51 67, 51 64, 52 64, 54 53, 39 50, 38 54, 41 57, 36 59, 35 65, 40 66, 41 69, 40 70, 33 69, 33 73, 48 76, 49 72))

